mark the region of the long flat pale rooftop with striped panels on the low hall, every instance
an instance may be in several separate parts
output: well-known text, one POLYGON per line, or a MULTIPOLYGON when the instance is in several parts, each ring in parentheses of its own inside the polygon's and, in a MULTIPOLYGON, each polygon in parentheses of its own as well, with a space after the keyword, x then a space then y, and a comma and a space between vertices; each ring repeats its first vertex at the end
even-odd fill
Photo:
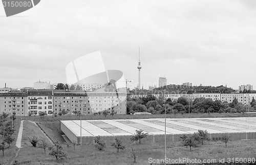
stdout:
MULTIPOLYGON (((256 117, 221 117, 194 119, 166 119, 166 134, 189 134, 198 130, 212 133, 256 132, 256 117)), ((80 136, 80 121, 60 121, 77 137, 80 136)), ((82 121, 82 136, 133 135, 137 129, 148 134, 164 135, 164 118, 126 120, 82 121)))

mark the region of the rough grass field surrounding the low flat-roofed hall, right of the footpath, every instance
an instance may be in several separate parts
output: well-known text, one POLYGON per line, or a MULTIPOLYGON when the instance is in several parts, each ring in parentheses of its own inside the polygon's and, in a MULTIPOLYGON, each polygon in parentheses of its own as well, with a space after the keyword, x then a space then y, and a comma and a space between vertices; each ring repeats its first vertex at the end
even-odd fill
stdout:
MULTIPOLYGON (((256 116, 256 113, 249 113, 248 115, 239 113, 211 113, 208 115, 204 114, 177 114, 175 118, 192 118, 192 117, 242 117, 242 116, 256 116)), ((154 117, 164 117, 164 114, 157 115, 114 115, 106 116, 103 115, 84 115, 82 120, 104 120, 104 119, 148 119, 154 117)), ((167 118, 172 118, 172 114, 167 114, 167 118)), ((23 119, 35 121, 40 127, 48 134, 51 139, 59 139, 61 143, 65 140, 62 138, 62 131, 59 128, 60 120, 80 120, 79 116, 76 115, 65 115, 65 116, 27 116, 23 119)), ((116 149, 107 146, 103 151, 98 151, 93 145, 82 145, 76 146, 76 150, 73 150, 73 146, 67 147, 63 145, 65 151, 68 153, 68 158, 56 161, 55 157, 45 155, 44 150, 38 147, 34 148, 28 142, 28 137, 37 135, 45 136, 42 134, 40 129, 34 124, 25 121, 24 122, 24 136, 23 142, 24 148, 22 148, 15 160, 23 164, 150 164, 148 158, 153 159, 164 159, 164 143, 147 143, 147 144, 133 144, 132 147, 137 152, 138 158, 136 163, 133 163, 133 158, 130 154, 130 146, 123 142, 126 146, 125 150, 119 151, 119 155, 116 153, 116 149)), ((192 151, 189 151, 189 147, 183 147, 180 142, 169 143, 167 142, 167 158, 178 159, 178 158, 190 158, 190 159, 217 159, 219 158, 255 158, 256 155, 256 140, 237 140, 228 142, 227 148, 225 143, 217 142, 206 142, 203 146, 192 147, 192 151)), ((6 152, 7 153, 7 152, 6 152)), ((15 154, 15 149, 13 149, 15 154)), ((1 158, 1 156, 0 156, 1 158)), ((1 161, 0 161, 1 162, 1 161)))

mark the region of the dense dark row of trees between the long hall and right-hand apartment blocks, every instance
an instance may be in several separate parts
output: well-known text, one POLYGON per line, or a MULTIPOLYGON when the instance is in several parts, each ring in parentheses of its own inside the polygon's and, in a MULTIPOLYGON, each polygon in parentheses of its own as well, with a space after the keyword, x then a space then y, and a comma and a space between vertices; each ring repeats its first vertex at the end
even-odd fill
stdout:
POLYGON ((135 112, 150 112, 152 114, 161 114, 165 112, 172 113, 245 113, 247 111, 256 110, 255 99, 249 105, 243 105, 235 98, 232 103, 220 100, 213 101, 210 98, 196 98, 189 101, 185 97, 180 97, 172 101, 170 98, 163 100, 162 97, 156 98, 148 95, 144 98, 127 98, 126 112, 127 114, 135 112), (163 105, 167 105, 164 107, 163 105))

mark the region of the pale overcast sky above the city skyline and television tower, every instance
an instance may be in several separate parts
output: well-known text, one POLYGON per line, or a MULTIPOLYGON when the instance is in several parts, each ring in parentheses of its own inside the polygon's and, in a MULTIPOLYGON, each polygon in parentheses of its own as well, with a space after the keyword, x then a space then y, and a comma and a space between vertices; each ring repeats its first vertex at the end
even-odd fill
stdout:
POLYGON ((0 87, 66 83, 65 67, 101 51, 129 87, 193 85, 256 89, 256 1, 42 0, 6 17, 0 4, 0 87), (148 86, 148 85, 144 85, 148 86))

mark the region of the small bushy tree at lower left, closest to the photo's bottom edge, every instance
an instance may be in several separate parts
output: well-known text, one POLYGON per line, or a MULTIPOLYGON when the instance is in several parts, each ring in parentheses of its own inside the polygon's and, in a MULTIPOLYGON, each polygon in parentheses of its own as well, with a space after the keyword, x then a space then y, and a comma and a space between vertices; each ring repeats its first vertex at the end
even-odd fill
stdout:
POLYGON ((54 146, 49 147, 49 150, 50 150, 49 155, 55 156, 57 161, 58 161, 58 159, 63 159, 63 158, 68 157, 68 154, 63 151, 63 147, 59 143, 58 139, 53 144, 55 147, 54 146))

